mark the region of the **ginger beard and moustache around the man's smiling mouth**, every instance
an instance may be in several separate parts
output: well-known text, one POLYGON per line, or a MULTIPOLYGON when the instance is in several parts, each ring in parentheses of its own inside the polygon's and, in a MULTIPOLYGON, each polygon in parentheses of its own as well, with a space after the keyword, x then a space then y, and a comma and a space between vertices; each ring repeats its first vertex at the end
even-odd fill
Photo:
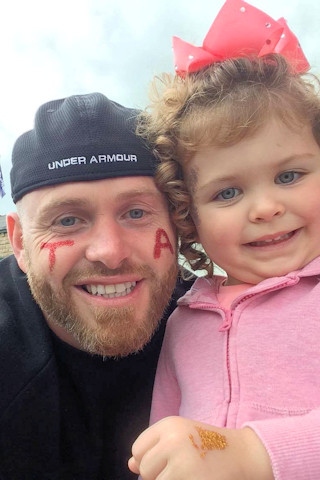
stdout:
MULTIPOLYGON (((161 278, 148 266, 123 267, 117 273, 136 272, 146 278, 150 285, 149 305, 145 314, 133 306, 95 308, 96 324, 88 325, 69 295, 70 285, 77 279, 89 278, 90 274, 106 275, 111 272, 102 264, 90 271, 69 273, 61 288, 53 289, 49 282, 33 270, 26 251, 27 277, 30 290, 48 323, 63 327, 78 341, 81 349, 106 357, 122 357, 141 350, 155 332, 163 311, 169 303, 177 276, 177 265, 173 262, 161 278)), ((115 271, 112 271, 114 274, 115 271)))

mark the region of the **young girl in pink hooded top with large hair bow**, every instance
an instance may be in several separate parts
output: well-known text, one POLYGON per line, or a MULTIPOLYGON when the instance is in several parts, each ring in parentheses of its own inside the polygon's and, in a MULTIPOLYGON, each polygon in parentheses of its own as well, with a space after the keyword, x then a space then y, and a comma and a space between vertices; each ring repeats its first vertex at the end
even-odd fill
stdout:
POLYGON ((318 480, 320 97, 291 32, 261 55, 226 9, 271 37, 279 27, 227 1, 204 53, 175 41, 178 75, 142 124, 180 251, 208 275, 168 322, 153 425, 129 467, 143 480, 318 480), (214 39, 229 33, 243 43, 219 59, 214 39))

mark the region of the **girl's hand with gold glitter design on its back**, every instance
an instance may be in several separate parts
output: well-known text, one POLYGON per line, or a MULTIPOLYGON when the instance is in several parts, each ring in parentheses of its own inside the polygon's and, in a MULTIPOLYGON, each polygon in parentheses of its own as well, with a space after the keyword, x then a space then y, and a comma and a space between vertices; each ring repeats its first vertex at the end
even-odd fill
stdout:
POLYGON ((128 462, 143 480, 274 480, 270 459, 250 428, 217 428, 167 417, 145 430, 128 462))

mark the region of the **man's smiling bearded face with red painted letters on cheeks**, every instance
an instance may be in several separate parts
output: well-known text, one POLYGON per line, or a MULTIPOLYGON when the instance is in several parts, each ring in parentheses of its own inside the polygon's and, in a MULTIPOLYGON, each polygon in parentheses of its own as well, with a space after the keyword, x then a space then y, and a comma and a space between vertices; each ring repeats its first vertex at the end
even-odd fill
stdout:
POLYGON ((52 330, 103 356, 141 349, 177 274, 175 233, 153 179, 43 188, 25 195, 19 210, 18 263, 52 330))

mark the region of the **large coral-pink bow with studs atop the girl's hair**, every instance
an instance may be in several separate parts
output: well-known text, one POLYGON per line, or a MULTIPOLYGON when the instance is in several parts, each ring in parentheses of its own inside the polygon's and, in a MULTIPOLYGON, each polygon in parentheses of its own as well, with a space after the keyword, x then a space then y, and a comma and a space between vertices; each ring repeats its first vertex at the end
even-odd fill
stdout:
POLYGON ((202 47, 173 37, 176 73, 184 77, 215 62, 247 55, 280 53, 295 73, 306 72, 309 62, 284 18, 278 21, 243 0, 226 0, 202 47))

